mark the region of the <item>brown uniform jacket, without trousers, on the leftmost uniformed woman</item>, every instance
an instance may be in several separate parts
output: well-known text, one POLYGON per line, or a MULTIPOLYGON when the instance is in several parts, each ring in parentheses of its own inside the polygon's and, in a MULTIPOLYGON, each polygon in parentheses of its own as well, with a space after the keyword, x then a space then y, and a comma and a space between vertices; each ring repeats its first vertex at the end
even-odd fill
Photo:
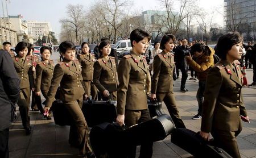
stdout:
POLYGON ((24 57, 24 61, 17 56, 12 56, 15 70, 20 78, 20 89, 34 88, 34 77, 32 70, 32 62, 28 57, 24 57), (23 62, 23 63, 22 63, 23 62))

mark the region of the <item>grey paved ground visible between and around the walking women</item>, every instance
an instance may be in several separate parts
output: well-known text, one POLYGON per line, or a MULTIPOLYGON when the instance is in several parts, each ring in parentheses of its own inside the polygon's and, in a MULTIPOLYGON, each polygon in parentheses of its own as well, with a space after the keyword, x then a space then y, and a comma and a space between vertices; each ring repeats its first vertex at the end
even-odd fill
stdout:
MULTIPOLYGON (((247 69, 248 83, 252 82, 253 70, 247 69)), ((181 76, 180 76, 181 77, 181 76)), ((188 77, 190 78, 190 76, 188 77)), ((174 82, 174 92, 181 118, 185 126, 200 131, 201 120, 192 120, 197 114, 196 91, 198 82, 187 80, 187 93, 180 93, 180 79, 174 82)), ((243 123, 243 131, 238 136, 238 145, 242 157, 256 158, 256 86, 243 88, 243 99, 251 123, 243 123)), ((164 111, 168 114, 166 106, 164 111)), ((77 157, 78 150, 68 144, 69 126, 56 126, 53 120, 45 120, 38 112, 31 111, 32 134, 26 136, 20 117, 10 130, 10 158, 20 157, 77 157)), ((154 143, 155 158, 189 157, 188 152, 172 144, 170 136, 154 143)))

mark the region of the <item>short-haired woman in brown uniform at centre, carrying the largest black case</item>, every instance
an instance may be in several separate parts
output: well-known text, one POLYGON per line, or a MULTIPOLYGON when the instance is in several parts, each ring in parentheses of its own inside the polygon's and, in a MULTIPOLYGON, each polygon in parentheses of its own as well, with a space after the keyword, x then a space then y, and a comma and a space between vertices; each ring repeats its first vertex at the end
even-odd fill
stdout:
MULTIPOLYGON (((150 120, 147 93, 150 92, 150 72, 146 57, 142 56, 148 47, 150 35, 140 29, 131 31, 129 55, 122 57, 118 66, 117 123, 127 127, 150 120)), ((154 128, 154 127, 152 127, 154 128)), ((139 157, 152 157, 152 142, 143 142, 139 157)), ((127 157, 136 156, 136 145, 125 147, 127 157)))

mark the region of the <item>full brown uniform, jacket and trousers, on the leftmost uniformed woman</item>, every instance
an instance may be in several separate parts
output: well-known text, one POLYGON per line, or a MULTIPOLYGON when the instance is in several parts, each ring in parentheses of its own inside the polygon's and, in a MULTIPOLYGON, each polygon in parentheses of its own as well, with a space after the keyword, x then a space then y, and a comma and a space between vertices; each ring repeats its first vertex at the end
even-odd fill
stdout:
POLYGON ((22 118, 24 128, 30 128, 30 116, 28 115, 30 106, 30 88, 34 88, 34 77, 32 63, 28 57, 20 59, 19 56, 13 56, 14 67, 20 78, 19 112, 22 118))

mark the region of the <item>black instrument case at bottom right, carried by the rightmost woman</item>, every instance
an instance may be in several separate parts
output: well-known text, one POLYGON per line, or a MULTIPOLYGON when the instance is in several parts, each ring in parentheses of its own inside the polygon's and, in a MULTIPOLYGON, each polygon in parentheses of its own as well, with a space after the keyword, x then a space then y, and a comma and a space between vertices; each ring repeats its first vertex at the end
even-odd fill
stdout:
POLYGON ((171 134, 171 142, 196 157, 232 157, 222 148, 208 144, 199 134, 186 128, 176 128, 171 134))

